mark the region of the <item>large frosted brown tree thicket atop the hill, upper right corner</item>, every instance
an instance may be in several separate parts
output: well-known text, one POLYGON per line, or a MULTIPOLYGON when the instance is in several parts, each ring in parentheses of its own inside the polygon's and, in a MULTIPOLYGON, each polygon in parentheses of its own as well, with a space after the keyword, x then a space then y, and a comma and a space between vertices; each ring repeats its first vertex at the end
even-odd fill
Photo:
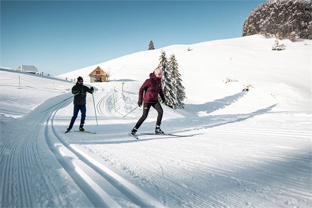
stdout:
POLYGON ((267 0, 244 22, 243 36, 263 34, 278 39, 312 39, 311 0, 267 0))

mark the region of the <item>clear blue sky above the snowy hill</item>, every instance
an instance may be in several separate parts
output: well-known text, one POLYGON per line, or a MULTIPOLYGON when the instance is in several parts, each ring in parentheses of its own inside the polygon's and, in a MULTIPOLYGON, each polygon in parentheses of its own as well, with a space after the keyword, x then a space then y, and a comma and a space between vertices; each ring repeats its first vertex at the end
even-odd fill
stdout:
POLYGON ((240 37, 264 0, 0 0, 0 66, 53 75, 173 44, 240 37))

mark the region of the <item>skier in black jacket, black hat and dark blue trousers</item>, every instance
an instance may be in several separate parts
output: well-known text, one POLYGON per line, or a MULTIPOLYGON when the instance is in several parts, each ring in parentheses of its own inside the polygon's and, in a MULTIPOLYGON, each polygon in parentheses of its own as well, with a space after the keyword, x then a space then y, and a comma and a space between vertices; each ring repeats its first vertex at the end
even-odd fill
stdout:
POLYGON ((70 121, 69 127, 67 128, 67 131, 70 131, 73 128, 74 122, 77 119, 79 111, 81 112, 81 120, 79 125, 80 131, 85 131, 84 129, 84 123, 85 123, 85 98, 86 98, 86 92, 93 93, 93 87, 88 88, 84 86, 84 79, 82 77, 78 77, 76 85, 72 88, 72 93, 77 94, 74 96, 74 115, 70 121))

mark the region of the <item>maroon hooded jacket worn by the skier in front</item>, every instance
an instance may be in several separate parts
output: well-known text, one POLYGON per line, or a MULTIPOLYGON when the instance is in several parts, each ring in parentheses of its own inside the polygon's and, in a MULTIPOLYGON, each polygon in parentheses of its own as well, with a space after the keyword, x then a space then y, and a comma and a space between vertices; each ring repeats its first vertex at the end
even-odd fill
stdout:
POLYGON ((142 103, 143 99, 144 103, 157 103, 158 94, 160 95, 162 100, 165 100, 161 78, 157 78, 154 73, 150 73, 149 79, 145 80, 139 90, 139 102, 142 103))

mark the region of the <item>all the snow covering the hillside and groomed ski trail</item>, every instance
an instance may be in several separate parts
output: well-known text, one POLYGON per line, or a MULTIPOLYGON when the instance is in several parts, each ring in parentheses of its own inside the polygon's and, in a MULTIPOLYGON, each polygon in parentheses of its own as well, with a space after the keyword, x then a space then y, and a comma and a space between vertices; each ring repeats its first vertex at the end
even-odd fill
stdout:
POLYGON ((161 49, 59 75, 95 88, 85 129, 96 134, 73 131, 80 115, 64 134, 72 98, 40 113, 72 96, 74 83, 1 69, 0 206, 311 207, 312 41, 281 40, 286 50, 272 51, 274 41, 163 48, 177 59, 187 99, 185 109, 163 106, 162 130, 189 137, 140 134, 154 131, 153 109, 139 140, 128 135, 142 108, 123 116, 161 49), (97 66, 110 82, 88 82, 97 66))

